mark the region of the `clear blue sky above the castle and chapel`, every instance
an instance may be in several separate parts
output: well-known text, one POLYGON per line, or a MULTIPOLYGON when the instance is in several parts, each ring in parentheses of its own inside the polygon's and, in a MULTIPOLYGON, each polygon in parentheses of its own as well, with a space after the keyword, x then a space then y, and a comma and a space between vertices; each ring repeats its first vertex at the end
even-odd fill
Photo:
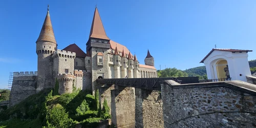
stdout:
MULTIPOLYGON (((157 69, 198 66, 214 48, 256 49, 256 1, 0 1, 0 89, 9 72, 36 71, 35 41, 47 5, 58 49, 85 51, 97 4, 106 34, 140 63, 147 49, 157 69)), ((248 59, 256 59, 254 52, 248 59)))

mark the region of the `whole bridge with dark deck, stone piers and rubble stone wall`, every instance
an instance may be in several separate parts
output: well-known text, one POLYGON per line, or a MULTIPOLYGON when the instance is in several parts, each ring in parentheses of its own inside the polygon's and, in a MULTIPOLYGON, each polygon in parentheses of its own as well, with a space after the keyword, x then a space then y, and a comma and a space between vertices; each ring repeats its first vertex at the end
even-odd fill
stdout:
POLYGON ((97 79, 117 127, 255 127, 256 86, 175 78, 97 79))

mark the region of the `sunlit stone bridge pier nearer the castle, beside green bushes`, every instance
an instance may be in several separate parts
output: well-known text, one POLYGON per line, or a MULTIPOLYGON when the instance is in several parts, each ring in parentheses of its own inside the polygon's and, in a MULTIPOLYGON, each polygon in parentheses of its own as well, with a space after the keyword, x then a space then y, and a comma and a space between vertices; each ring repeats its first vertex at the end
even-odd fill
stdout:
POLYGON ((111 120, 116 127, 135 127, 135 95, 132 87, 111 90, 111 120))

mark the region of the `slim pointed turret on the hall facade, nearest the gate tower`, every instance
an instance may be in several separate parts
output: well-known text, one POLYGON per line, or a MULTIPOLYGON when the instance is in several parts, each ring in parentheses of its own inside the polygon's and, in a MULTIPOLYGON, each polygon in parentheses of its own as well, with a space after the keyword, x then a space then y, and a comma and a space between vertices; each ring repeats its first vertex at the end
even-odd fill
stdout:
POLYGON ((114 53, 114 78, 120 78, 120 55, 117 50, 117 46, 114 53))

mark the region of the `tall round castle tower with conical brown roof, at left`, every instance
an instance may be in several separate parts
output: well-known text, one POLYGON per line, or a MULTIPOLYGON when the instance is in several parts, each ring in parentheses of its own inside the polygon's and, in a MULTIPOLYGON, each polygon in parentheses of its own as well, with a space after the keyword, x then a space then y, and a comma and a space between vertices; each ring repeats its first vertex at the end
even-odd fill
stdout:
POLYGON ((53 61, 51 55, 57 49, 57 42, 55 40, 52 23, 50 19, 49 6, 42 25, 41 32, 36 40, 36 54, 37 54, 37 88, 36 92, 44 88, 53 88, 53 61))

